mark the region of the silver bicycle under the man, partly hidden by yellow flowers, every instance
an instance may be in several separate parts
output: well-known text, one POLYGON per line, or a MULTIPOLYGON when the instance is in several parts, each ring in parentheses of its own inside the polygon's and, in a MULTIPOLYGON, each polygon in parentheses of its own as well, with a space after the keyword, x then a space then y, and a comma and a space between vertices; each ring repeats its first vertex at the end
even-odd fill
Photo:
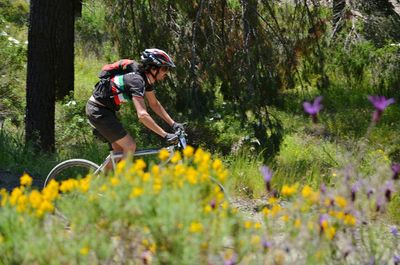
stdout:
MULTIPOLYGON (((97 132, 94 132, 94 134, 98 136, 97 132)), ((176 132, 176 135, 178 136, 178 141, 175 144, 172 144, 170 146, 163 147, 163 148, 138 150, 133 154, 133 156, 139 157, 139 156, 146 156, 146 155, 156 155, 156 154, 160 153, 160 151, 162 149, 166 149, 170 153, 169 158, 165 161, 165 162, 168 162, 173 157, 176 149, 183 150, 186 147, 185 131, 178 130, 176 132)), ((104 171, 106 165, 110 162, 112 164, 113 170, 115 170, 117 161, 119 161, 123 158, 123 152, 114 152, 114 151, 112 151, 110 144, 109 144, 109 146, 110 146, 110 153, 105 158, 104 162, 101 165, 97 165, 96 163, 94 163, 90 160, 81 159, 81 158, 69 159, 69 160, 65 160, 65 161, 57 164, 47 175, 46 180, 44 181, 43 188, 46 187, 47 184, 52 179, 59 181, 59 180, 65 180, 65 179, 71 178, 71 176, 72 177, 75 177, 75 176, 84 177, 91 172, 94 176, 97 176, 101 172, 104 171)))

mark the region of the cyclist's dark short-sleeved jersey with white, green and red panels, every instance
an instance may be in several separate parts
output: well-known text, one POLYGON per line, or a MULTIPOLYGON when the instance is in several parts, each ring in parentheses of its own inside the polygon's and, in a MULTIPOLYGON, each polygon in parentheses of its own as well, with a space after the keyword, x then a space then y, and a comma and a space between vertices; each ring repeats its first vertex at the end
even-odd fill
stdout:
POLYGON ((130 72, 100 80, 93 96, 107 108, 118 111, 121 104, 131 101, 132 97, 143 98, 145 91, 152 90, 144 73, 130 72))

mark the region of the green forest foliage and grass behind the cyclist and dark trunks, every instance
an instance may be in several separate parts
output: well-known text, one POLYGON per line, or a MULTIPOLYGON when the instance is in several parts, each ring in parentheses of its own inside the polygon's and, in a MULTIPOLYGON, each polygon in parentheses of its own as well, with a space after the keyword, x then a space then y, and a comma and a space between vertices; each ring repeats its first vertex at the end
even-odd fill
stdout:
MULTIPOLYGON (((83 1, 75 20, 74 87, 56 102, 51 153, 25 141, 29 4, 1 0, 0 6, 5 174, 27 171, 40 185, 57 161, 100 162, 107 146, 91 135, 86 100, 102 65, 138 59, 148 47, 166 50, 177 65, 168 82, 157 86, 160 101, 177 121, 188 123, 191 145, 229 165, 230 189, 238 196, 264 194, 262 179, 255 177, 263 163, 275 170, 276 187, 332 184, 339 165, 357 157, 360 141, 365 171, 376 159, 400 160, 396 1, 83 1), (315 124, 302 103, 319 95, 324 108, 315 124), (368 95, 397 103, 366 135, 373 111, 368 95)), ((135 116, 132 106, 121 111, 139 146, 160 145, 135 116)))

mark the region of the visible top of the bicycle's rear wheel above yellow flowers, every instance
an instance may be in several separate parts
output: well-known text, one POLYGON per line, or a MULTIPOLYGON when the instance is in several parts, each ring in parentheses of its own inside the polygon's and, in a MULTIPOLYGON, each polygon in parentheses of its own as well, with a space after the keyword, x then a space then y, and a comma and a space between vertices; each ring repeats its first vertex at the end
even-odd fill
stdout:
POLYGON ((46 187, 50 180, 63 181, 70 178, 85 177, 91 172, 98 171, 99 166, 86 159, 70 159, 56 165, 47 175, 43 187, 46 187))

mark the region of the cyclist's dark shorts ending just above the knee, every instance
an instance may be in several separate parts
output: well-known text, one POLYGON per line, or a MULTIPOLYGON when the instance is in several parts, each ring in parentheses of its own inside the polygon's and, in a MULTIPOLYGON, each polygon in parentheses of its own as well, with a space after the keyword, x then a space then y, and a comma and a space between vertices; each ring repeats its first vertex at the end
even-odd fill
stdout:
POLYGON ((86 104, 86 115, 90 123, 110 143, 113 143, 128 133, 122 127, 121 122, 115 115, 115 111, 88 100, 86 104))

